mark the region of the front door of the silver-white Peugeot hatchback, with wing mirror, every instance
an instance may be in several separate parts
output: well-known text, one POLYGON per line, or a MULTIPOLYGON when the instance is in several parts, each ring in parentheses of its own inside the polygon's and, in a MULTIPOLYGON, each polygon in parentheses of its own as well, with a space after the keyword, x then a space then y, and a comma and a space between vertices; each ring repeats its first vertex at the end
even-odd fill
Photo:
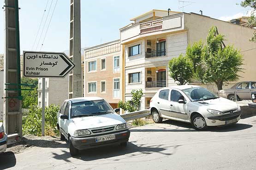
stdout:
POLYGON ((179 100, 184 100, 186 102, 186 99, 181 92, 172 90, 170 95, 171 115, 175 118, 188 119, 188 103, 179 103, 179 100))

